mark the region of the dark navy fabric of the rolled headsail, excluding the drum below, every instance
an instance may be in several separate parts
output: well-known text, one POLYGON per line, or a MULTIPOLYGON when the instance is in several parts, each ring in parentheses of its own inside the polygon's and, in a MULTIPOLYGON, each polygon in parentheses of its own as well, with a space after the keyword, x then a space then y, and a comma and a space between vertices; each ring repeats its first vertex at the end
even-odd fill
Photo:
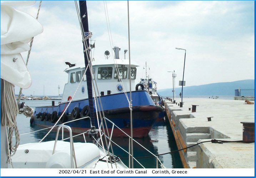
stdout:
MULTIPOLYGON (((88 27, 86 1, 79 1, 79 7, 80 7, 80 17, 81 17, 82 26, 84 28, 85 37, 87 37, 89 36, 89 27, 88 27)), ((89 38, 87 38, 86 44, 87 44, 87 47, 89 47, 89 38)), ((85 46, 84 46, 84 51, 85 51, 85 46)), ((87 48, 87 50, 84 52, 85 67, 88 66, 87 56, 90 57, 89 48, 87 48)), ((93 97, 92 97, 92 80, 91 80, 91 73, 89 68, 86 70, 86 83, 87 83, 87 91, 88 91, 88 99, 89 99, 91 125, 95 127, 94 107, 93 107, 93 97)))

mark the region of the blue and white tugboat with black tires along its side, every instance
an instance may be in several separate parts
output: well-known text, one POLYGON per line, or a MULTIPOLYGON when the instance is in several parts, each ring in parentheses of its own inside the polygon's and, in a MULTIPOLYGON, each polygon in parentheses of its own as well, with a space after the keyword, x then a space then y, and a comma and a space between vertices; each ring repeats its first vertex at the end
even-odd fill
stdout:
MULTIPOLYGON (((129 60, 119 58, 120 48, 115 46, 113 50, 115 52, 114 61, 109 59, 109 51, 105 52, 105 59, 92 61, 94 73, 92 79, 97 83, 103 108, 103 110, 98 109, 98 111, 103 112, 107 119, 114 122, 117 127, 127 134, 130 134, 130 108, 127 101, 127 98, 130 98, 130 94, 129 92, 126 93, 125 88, 129 88, 129 79, 131 79, 131 88, 134 89, 131 92, 133 136, 145 137, 159 117, 159 113, 163 112, 163 109, 155 105, 151 98, 152 94, 149 91, 139 90, 135 86, 136 67, 139 65, 131 61, 131 69, 129 71, 129 60)), ((126 52, 127 50, 125 50, 126 52)), ((64 72, 68 74, 68 83, 65 84, 62 101, 57 106, 36 107, 30 123, 44 127, 54 125, 71 99, 72 102, 60 119, 59 124, 90 116, 86 79, 83 77, 85 67, 77 67, 76 64, 71 64, 70 62, 66 62, 66 64, 69 68, 66 68, 64 72), (76 95, 72 97, 76 90, 76 95)), ((99 100, 99 96, 96 96, 96 98, 99 100)), ((94 107, 94 115, 96 116, 96 114, 96 108, 94 107)), ((90 119, 67 125, 75 133, 81 133, 91 128, 90 119)), ((97 126, 97 123, 95 125, 97 126)), ((111 130, 109 129, 109 131, 111 130)), ((113 136, 126 135, 115 127, 113 136)))

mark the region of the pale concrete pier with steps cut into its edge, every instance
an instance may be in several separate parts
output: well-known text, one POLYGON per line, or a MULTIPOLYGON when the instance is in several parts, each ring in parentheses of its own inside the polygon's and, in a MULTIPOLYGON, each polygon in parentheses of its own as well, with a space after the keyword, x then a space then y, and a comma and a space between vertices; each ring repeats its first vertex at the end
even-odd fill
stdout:
MULTIPOLYGON (((255 105, 244 101, 183 98, 183 102, 180 108, 176 103, 164 101, 179 149, 211 139, 242 141, 241 122, 254 122, 255 105), (197 105, 195 112, 192 105, 197 105)), ((179 153, 184 168, 254 168, 254 149, 254 142, 206 142, 179 153)))

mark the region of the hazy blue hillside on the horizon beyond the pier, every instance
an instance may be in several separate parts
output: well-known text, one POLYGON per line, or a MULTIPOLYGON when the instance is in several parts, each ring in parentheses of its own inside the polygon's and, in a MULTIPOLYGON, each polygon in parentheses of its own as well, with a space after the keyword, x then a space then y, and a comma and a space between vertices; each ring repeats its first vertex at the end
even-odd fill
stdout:
MULTIPOLYGON (((221 82, 211 83, 206 85, 183 87, 183 95, 235 95, 235 90, 240 89, 254 89, 254 80, 239 80, 235 82, 221 82)), ((181 92, 181 87, 176 88, 176 95, 181 92)), ((157 90, 162 96, 172 95, 172 88, 157 90)))

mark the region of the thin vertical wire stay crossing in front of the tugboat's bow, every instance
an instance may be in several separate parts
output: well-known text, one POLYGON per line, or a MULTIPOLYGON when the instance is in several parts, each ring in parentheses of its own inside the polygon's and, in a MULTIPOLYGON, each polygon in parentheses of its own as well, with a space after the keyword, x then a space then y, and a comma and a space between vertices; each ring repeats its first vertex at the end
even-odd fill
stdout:
MULTIPOLYGON (((131 49, 130 49, 130 19, 129 19, 129 1, 127 1, 127 10, 128 10, 128 42, 129 42, 129 71, 131 73, 131 49)), ((133 131, 132 131, 132 100, 131 100, 131 77, 129 77, 130 82, 130 101, 129 101, 129 108, 130 108, 130 117, 131 117, 131 168, 133 168, 133 131)), ((130 150, 130 149, 129 149, 130 150)), ((129 153, 130 155, 130 153, 129 153)), ((129 159, 130 160, 130 159, 129 159)), ((130 166, 130 163, 129 163, 130 166)))

